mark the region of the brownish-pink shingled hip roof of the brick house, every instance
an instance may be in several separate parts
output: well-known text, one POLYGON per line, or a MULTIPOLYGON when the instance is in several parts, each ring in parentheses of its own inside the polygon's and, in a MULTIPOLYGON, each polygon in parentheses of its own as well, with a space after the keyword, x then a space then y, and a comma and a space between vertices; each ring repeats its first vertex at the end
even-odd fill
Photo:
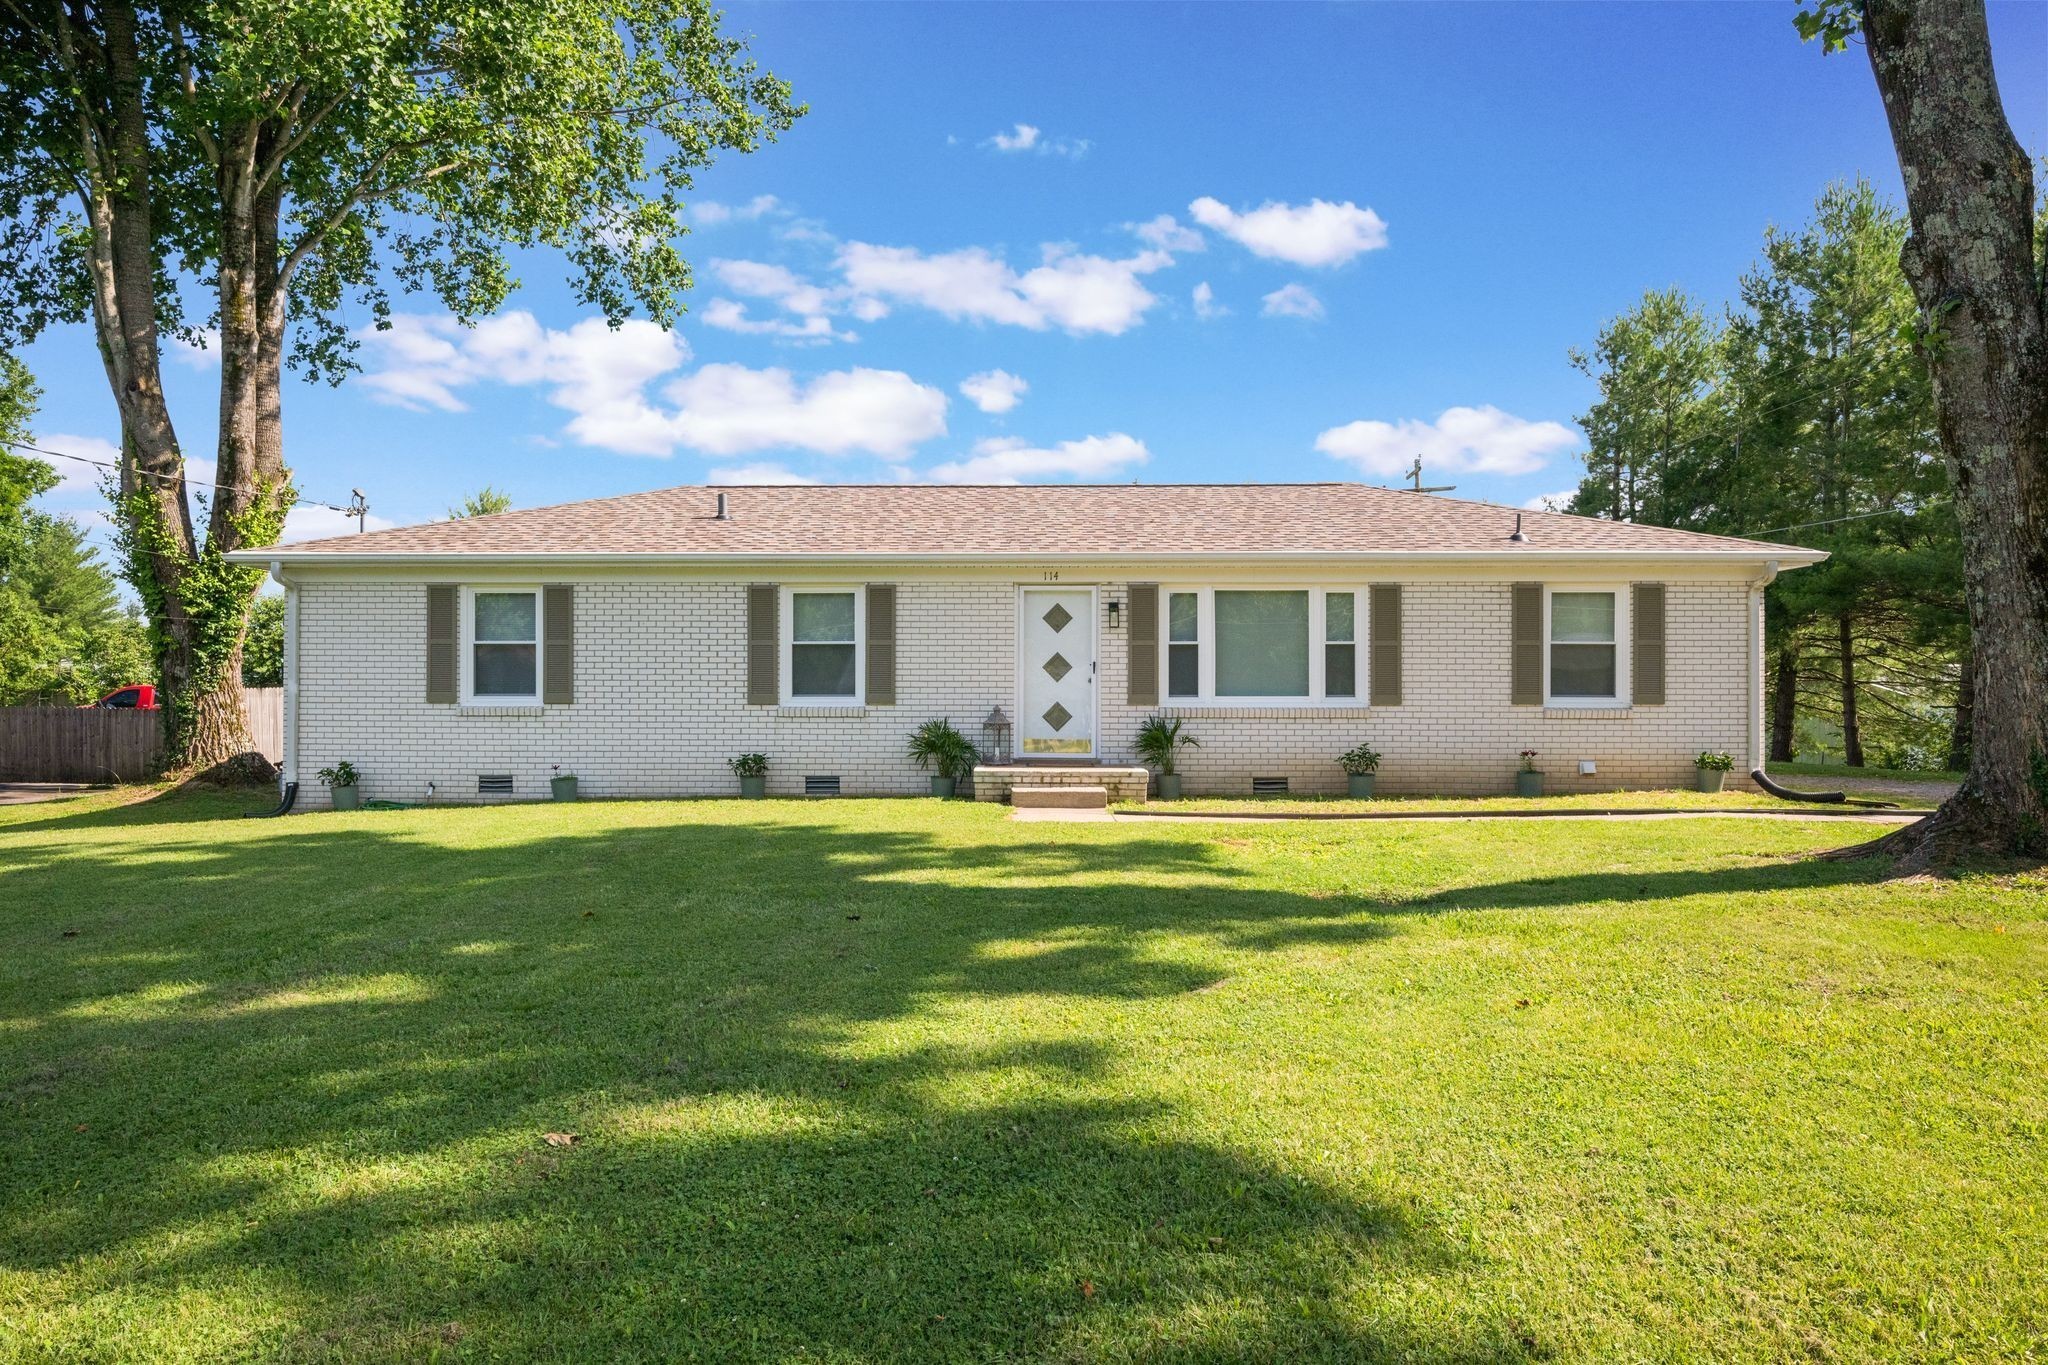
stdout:
POLYGON ((674 487, 246 551, 328 555, 1417 555, 1720 553, 1765 540, 1434 497, 1362 483, 674 487), (719 497, 727 520, 719 520, 719 497), (1526 540, 1509 540, 1516 518, 1526 540))

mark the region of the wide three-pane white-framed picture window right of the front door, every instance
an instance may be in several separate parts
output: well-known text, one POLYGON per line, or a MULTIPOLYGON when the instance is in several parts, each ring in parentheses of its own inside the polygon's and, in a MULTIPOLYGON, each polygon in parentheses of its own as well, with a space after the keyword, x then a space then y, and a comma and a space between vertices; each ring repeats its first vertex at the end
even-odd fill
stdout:
POLYGON ((1352 704, 1364 694, 1358 587, 1161 587, 1167 702, 1352 704))

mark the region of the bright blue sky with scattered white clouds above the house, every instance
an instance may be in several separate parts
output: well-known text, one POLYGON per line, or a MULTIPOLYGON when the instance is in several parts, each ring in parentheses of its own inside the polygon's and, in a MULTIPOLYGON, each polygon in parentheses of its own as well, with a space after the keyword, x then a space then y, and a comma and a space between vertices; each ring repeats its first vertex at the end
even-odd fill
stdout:
MULTIPOLYGON (((674 334, 547 256, 465 334, 426 299, 340 389, 287 381, 309 499, 373 526, 700 481, 1577 483, 1567 364, 1645 289, 1718 305, 1833 178, 1898 199, 1860 49, 1792 4, 735 4, 811 115, 698 180, 674 334)), ((2048 151, 2048 4, 1993 4, 2048 151)), ((39 440, 111 450, 82 329, 39 440)), ((217 370, 170 366, 211 452, 217 370)), ((205 469, 199 458, 195 465, 205 469)), ((94 510, 72 467, 49 495, 94 510)), ((293 534, 342 530, 309 508, 293 534)))

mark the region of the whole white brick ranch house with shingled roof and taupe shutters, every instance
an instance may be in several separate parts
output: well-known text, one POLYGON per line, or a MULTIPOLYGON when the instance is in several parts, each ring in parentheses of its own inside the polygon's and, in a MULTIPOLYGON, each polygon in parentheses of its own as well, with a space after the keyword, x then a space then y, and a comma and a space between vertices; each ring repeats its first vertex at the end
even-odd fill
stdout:
POLYGON ((305 804, 340 759, 391 800, 731 794, 748 751, 770 794, 911 794, 909 731, 989 747, 993 708, 1063 765, 1182 716, 1190 794, 1341 792, 1360 741, 1391 794, 1522 749, 1679 786, 1761 763, 1763 585, 1821 557, 1352 483, 678 487, 233 555, 287 593, 305 804))

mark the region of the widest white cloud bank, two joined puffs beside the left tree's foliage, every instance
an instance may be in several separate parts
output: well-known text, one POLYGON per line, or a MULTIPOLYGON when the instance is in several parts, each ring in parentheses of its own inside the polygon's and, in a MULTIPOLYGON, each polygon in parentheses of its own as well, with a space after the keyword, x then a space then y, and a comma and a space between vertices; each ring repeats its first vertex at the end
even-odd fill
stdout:
POLYGON ((467 411, 477 383, 539 385, 571 413, 567 434, 618 454, 743 454, 797 446, 823 454, 868 450, 903 456, 946 432, 946 395, 901 370, 831 370, 799 385, 782 368, 707 364, 647 397, 647 385, 682 368, 690 348, 653 323, 616 332, 588 317, 565 332, 530 313, 502 313, 473 329, 451 317, 399 315, 371 334, 387 358, 362 383, 385 403, 467 411))

